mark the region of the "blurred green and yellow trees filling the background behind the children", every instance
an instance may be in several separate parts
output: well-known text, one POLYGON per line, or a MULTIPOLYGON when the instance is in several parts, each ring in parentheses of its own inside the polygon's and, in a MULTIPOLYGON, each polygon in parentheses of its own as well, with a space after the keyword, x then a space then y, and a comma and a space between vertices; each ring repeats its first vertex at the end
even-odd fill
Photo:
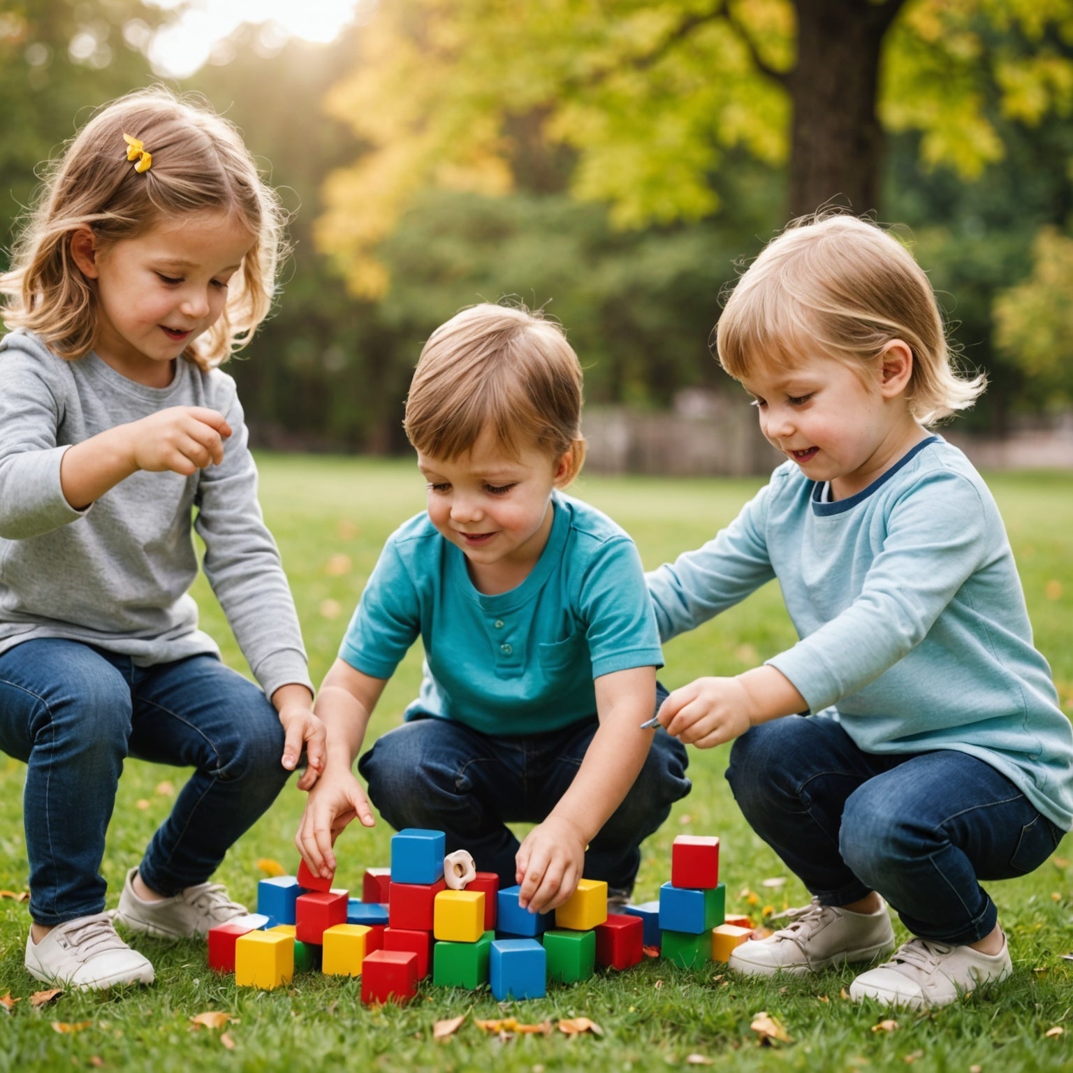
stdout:
MULTIPOLYGON (((161 80, 181 15, 0 12, 0 226, 93 106, 161 80)), ((546 306, 592 403, 733 391, 721 290, 825 202, 906 225, 1000 433, 1073 395, 1073 0, 391 0, 328 44, 242 26, 181 80, 293 210, 278 309, 232 363, 262 443, 387 452, 423 340, 546 306)))

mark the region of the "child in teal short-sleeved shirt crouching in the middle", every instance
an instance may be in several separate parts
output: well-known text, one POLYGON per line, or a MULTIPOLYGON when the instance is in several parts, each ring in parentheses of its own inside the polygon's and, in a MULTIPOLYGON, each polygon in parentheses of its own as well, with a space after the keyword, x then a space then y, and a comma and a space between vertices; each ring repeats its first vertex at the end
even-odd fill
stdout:
POLYGON ((428 510, 388 539, 317 702, 327 761, 295 841, 319 873, 352 819, 372 824, 351 766, 417 637, 421 695, 362 756, 369 797, 520 884, 524 908, 556 908, 583 874, 624 899, 688 793, 684 746, 637 732, 662 658, 636 548, 562 493, 580 406, 577 356, 538 314, 476 306, 426 343, 406 428, 428 510), (538 826, 519 844, 513 822, 538 826))

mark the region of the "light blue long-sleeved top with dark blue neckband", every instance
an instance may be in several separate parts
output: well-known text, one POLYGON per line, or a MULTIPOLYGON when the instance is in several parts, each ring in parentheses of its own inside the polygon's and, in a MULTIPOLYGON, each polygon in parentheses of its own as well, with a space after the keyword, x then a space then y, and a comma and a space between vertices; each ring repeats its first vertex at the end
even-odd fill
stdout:
POLYGON ((784 462, 735 520, 647 575, 660 637, 777 577, 800 638, 767 661, 872 753, 956 749, 1073 824, 1073 734, 1032 644, 1005 527, 941 437, 869 487, 820 501, 784 462))

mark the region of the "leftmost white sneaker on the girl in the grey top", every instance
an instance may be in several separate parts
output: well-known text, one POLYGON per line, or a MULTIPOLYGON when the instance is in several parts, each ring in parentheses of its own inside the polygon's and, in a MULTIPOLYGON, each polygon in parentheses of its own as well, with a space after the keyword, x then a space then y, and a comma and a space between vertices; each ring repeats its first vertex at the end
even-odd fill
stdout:
POLYGON ((111 987, 151 984, 152 965, 116 935, 107 913, 58 924, 41 942, 26 940, 26 969, 46 984, 111 987))

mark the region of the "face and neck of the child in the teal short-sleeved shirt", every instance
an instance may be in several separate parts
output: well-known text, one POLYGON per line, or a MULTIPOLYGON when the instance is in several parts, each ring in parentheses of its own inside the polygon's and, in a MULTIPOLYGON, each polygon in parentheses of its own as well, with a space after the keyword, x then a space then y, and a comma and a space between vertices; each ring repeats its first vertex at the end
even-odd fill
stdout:
POLYGON ((553 458, 527 444, 513 458, 482 432, 471 451, 447 460, 417 453, 428 482, 428 517, 461 548, 482 591, 519 585, 552 531, 552 490, 569 473, 569 454, 553 458))

